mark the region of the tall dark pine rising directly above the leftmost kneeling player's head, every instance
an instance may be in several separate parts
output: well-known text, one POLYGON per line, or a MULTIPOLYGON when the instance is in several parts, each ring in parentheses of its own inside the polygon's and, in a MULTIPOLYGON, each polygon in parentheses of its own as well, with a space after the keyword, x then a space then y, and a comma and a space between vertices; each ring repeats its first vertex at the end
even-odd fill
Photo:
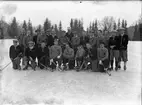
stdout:
POLYGON ((8 27, 8 34, 12 38, 15 38, 18 36, 19 31, 18 31, 18 23, 16 21, 16 17, 13 18, 12 23, 8 27))

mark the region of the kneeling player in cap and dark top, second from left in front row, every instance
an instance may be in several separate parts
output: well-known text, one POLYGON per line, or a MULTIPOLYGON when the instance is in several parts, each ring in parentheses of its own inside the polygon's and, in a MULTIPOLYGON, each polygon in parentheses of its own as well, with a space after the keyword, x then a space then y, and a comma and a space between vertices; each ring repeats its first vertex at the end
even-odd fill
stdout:
POLYGON ((36 68, 36 57, 37 57, 37 51, 36 51, 36 47, 34 45, 34 42, 33 41, 29 41, 28 42, 29 46, 28 48, 26 48, 26 51, 25 51, 25 67, 23 68, 23 70, 26 70, 28 69, 29 66, 32 67, 32 69, 35 70, 36 68))

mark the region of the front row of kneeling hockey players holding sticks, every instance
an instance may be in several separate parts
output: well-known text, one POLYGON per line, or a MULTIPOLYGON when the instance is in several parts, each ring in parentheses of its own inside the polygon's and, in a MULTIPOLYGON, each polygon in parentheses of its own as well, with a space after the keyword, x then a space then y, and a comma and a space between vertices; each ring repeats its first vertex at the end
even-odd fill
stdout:
POLYGON ((44 41, 38 47, 34 45, 34 42, 29 41, 29 46, 25 50, 18 45, 17 40, 13 40, 13 43, 9 51, 13 69, 21 70, 21 58, 24 59, 23 70, 28 69, 28 67, 35 70, 37 65, 40 69, 51 68, 52 71, 56 68, 59 70, 91 69, 97 71, 98 64, 101 64, 104 66, 104 69, 101 70, 103 72, 109 66, 108 49, 104 47, 103 42, 99 48, 86 43, 85 46, 79 45, 75 50, 69 44, 60 46, 58 39, 54 40, 54 45, 51 47, 47 47, 44 41))

